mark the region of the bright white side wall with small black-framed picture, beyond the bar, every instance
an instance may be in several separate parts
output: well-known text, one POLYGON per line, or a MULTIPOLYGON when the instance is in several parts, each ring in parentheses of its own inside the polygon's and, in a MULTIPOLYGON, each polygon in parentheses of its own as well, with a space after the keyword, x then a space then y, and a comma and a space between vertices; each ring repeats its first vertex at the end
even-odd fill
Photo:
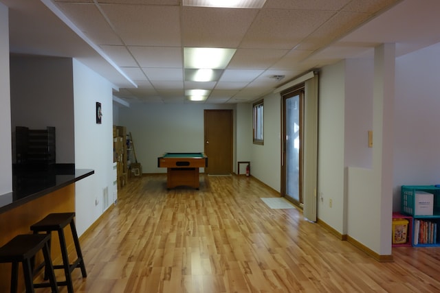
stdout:
POLYGON ((113 97, 107 80, 78 60, 73 65, 75 167, 95 170, 76 183, 76 228, 81 235, 113 203, 113 97), (102 124, 96 124, 96 102, 102 104, 102 124))

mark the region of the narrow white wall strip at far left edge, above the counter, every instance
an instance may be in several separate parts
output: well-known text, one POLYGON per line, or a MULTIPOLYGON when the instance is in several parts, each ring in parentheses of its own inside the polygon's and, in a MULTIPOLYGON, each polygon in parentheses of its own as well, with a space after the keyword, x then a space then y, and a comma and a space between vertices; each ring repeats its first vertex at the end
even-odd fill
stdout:
POLYGON ((0 195, 12 191, 9 14, 0 3, 0 195))

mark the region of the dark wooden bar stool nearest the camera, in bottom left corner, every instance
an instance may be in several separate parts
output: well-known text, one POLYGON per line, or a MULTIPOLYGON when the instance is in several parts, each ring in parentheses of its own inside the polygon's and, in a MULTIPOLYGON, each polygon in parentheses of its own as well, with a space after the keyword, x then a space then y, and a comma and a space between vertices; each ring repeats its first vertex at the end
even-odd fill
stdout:
POLYGON ((58 292, 54 268, 49 251, 50 235, 23 234, 17 235, 0 248, 0 263, 12 263, 10 292, 17 292, 19 279, 19 263, 23 266, 26 293, 34 292, 34 288, 51 287, 58 292), (50 283, 34 283, 32 259, 43 250, 46 273, 50 283))

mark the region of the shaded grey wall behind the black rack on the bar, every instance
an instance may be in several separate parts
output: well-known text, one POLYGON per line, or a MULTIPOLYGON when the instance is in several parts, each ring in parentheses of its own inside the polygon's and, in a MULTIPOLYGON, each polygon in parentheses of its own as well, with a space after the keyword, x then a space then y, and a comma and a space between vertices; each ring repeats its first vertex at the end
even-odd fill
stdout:
POLYGON ((72 59, 12 56, 10 60, 12 132, 15 126, 37 130, 55 126, 56 163, 74 163, 72 59))

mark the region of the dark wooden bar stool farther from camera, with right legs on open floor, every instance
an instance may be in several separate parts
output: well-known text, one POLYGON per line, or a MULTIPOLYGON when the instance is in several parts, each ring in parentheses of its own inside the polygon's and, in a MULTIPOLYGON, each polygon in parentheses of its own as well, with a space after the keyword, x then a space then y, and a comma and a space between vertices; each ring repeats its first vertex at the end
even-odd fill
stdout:
MULTIPOLYGON (((87 277, 87 272, 85 270, 85 263, 83 259, 83 253, 81 253, 80 242, 78 240, 78 234, 76 233, 75 227, 75 213, 50 213, 43 220, 37 222, 30 226, 31 231, 38 234, 40 232, 45 232, 47 234, 52 233, 52 231, 58 232, 58 238, 60 241, 61 256, 63 257, 62 265, 54 265, 54 269, 64 269, 65 281, 58 281, 58 285, 67 286, 67 292, 74 293, 74 286, 72 285, 72 271, 75 268, 81 269, 81 274, 83 277, 87 277), (76 249, 77 259, 70 263, 69 255, 67 253, 67 244, 65 240, 64 228, 70 225, 70 230, 72 231, 72 236, 74 238, 74 244, 76 249)), ((49 246, 50 248, 50 246, 49 246)), ((45 263, 41 263, 36 270, 43 268, 45 263)), ((47 272, 47 266, 45 266, 47 272)))

